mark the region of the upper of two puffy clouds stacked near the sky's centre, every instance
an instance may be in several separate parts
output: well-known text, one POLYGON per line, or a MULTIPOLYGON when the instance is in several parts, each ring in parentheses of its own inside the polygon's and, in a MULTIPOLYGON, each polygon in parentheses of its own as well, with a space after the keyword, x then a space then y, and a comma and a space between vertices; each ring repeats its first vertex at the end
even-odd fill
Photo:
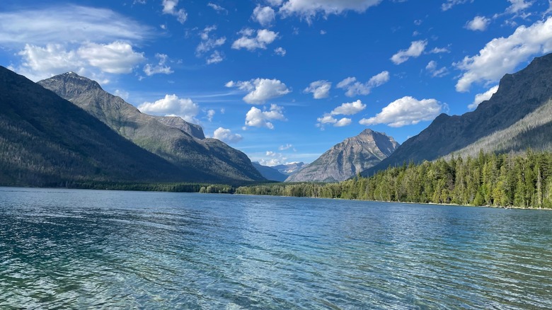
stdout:
POLYGON ((249 93, 243 97, 246 103, 265 103, 266 101, 284 96, 291 91, 286 84, 277 79, 253 79, 251 81, 229 81, 226 87, 237 87, 249 93))

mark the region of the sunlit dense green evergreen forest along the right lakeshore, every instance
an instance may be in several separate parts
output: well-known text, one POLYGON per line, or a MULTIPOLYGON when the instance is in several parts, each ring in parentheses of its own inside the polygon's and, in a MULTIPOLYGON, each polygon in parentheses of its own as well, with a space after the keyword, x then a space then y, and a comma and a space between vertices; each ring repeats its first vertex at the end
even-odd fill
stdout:
POLYGON ((552 153, 483 154, 404 163, 341 183, 243 186, 236 194, 495 207, 552 207, 552 153))

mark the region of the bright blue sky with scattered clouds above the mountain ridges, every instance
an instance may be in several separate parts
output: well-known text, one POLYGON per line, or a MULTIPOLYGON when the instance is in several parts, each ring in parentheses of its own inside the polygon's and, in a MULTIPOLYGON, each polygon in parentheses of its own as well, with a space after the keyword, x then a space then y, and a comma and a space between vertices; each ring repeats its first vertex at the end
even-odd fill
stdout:
POLYGON ((121 0, 0 4, 0 64, 75 71, 273 166, 365 128, 402 143, 552 51, 546 0, 121 0))

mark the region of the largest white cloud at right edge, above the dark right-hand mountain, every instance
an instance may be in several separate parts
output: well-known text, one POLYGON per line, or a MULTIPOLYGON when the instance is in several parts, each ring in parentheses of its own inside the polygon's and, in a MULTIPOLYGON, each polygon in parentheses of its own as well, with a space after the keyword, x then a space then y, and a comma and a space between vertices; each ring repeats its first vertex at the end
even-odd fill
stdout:
POLYGON ((454 66, 464 71, 456 91, 468 91, 471 84, 498 81, 530 57, 552 51, 552 17, 526 27, 519 26, 508 38, 495 38, 479 54, 464 57, 454 66))

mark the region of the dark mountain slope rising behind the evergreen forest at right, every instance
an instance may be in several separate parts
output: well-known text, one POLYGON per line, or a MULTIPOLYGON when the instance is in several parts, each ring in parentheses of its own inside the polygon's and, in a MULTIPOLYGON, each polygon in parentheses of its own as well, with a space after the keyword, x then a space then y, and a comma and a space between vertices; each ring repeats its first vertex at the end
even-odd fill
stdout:
POLYGON ((551 98, 552 54, 547 54, 535 58, 525 69, 503 76, 498 91, 473 112, 439 115, 429 127, 362 175, 370 176, 403 162, 431 161, 457 151, 473 155, 480 149, 551 149, 552 123, 550 114, 544 113, 551 98))

